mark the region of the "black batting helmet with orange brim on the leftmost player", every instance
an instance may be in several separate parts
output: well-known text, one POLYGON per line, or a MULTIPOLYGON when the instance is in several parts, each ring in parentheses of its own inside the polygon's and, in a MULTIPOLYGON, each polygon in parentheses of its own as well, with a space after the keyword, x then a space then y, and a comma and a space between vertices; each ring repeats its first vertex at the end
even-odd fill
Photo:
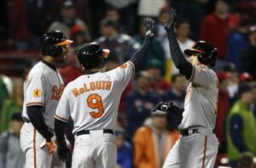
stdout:
POLYGON ((67 37, 61 31, 50 31, 41 37, 41 53, 43 55, 57 57, 63 52, 61 46, 71 42, 73 41, 67 40, 67 37))

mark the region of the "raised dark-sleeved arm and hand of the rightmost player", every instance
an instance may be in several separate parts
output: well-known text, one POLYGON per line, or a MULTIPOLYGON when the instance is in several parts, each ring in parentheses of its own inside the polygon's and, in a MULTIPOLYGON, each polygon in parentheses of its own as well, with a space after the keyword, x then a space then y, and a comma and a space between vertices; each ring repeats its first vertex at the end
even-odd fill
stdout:
POLYGON ((169 41, 169 47, 171 50, 172 60, 177 69, 181 74, 186 76, 186 78, 189 80, 190 76, 192 75, 193 66, 192 64, 187 61, 184 56, 183 52, 179 48, 179 45, 177 43, 177 37, 174 33, 174 23, 176 20, 176 10, 174 8, 171 9, 169 20, 166 22, 165 29, 167 31, 168 35, 168 41, 169 41))

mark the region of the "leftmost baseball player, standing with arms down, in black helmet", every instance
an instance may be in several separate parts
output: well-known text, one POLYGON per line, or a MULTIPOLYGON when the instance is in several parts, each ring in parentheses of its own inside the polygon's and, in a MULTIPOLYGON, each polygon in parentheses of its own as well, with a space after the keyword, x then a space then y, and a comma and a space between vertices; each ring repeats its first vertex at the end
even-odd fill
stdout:
POLYGON ((40 43, 42 59, 26 77, 22 113, 25 123, 20 131, 26 167, 49 168, 51 165, 56 149, 54 114, 64 90, 56 66, 64 63, 67 44, 71 42, 61 31, 44 34, 40 43))

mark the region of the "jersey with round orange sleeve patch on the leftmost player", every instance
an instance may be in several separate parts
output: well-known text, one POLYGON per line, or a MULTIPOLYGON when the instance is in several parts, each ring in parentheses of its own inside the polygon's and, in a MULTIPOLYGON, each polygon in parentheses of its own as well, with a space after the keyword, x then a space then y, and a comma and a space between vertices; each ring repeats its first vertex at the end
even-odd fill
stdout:
POLYGON ((55 109, 64 90, 64 83, 58 70, 52 65, 40 61, 29 72, 24 83, 24 103, 22 115, 28 118, 26 107, 44 106, 44 122, 54 129, 55 109))

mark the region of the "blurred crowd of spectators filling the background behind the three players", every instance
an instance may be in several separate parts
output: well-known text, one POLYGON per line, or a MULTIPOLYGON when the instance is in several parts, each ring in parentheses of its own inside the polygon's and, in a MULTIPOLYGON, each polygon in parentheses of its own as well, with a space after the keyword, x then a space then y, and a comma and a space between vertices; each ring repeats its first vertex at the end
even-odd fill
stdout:
POLYGON ((188 85, 172 63, 163 27, 170 8, 176 8, 179 15, 175 31, 182 51, 191 48, 197 40, 218 48, 214 67, 219 81, 216 165, 236 163, 240 167, 253 167, 252 158, 256 156, 255 0, 1 0, 0 167, 19 167, 24 161, 19 143, 15 142, 19 141, 22 124, 23 82, 40 58, 40 36, 46 31, 60 30, 74 41, 67 64, 60 68, 67 84, 83 74, 75 53, 84 43, 98 42, 102 48, 110 49, 107 70, 130 59, 142 45, 145 17, 155 20, 156 36, 147 59, 138 66, 139 72, 121 98, 115 130, 117 161, 122 168, 161 167, 177 140, 182 115, 152 114, 151 109, 160 101, 183 107, 188 85), (31 51, 36 52, 34 58, 22 58, 23 53, 31 51), (9 53, 19 53, 16 59, 26 61, 12 63, 14 67, 8 67, 10 75, 7 76, 2 73, 2 67, 6 67, 4 61, 9 59, 9 53), (21 68, 15 69, 16 65, 21 68), (9 157, 15 159, 8 160, 9 157), (229 163, 221 160, 225 157, 229 163))

